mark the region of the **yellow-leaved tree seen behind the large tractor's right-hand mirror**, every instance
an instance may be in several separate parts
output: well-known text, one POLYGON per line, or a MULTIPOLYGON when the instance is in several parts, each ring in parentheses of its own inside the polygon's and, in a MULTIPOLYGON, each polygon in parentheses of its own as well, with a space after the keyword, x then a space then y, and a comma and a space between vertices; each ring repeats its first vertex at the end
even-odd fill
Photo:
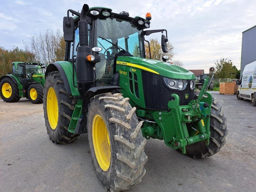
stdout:
MULTIPOLYGON (((151 59, 162 60, 163 55, 167 55, 169 57, 169 60, 172 60, 174 56, 174 51, 173 51, 174 46, 170 41, 167 42, 167 49, 168 49, 167 53, 164 53, 162 51, 161 43, 159 43, 159 41, 156 38, 150 39, 149 44, 150 44, 151 59)), ((146 58, 150 58, 147 42, 145 42, 145 52, 146 52, 146 58)))

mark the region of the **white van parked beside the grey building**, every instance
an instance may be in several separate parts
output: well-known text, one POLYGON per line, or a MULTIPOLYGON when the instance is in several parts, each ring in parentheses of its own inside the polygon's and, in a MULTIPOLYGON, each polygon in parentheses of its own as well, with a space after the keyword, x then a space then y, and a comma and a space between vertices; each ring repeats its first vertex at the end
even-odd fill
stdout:
POLYGON ((241 80, 237 80, 236 84, 239 85, 236 98, 251 100, 252 106, 256 106, 256 61, 244 67, 241 80))

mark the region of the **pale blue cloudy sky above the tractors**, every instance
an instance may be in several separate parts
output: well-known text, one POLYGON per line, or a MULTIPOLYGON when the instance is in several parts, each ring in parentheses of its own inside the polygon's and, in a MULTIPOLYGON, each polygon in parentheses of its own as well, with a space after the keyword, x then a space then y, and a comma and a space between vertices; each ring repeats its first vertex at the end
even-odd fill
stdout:
MULTIPOLYGON (((175 47, 173 59, 182 61, 186 69, 204 69, 205 73, 223 57, 240 69, 242 32, 256 25, 255 0, 0 0, 0 46, 24 48, 23 42, 33 34, 62 31, 67 10, 81 12, 84 3, 129 12, 131 17, 145 18, 150 12, 150 29, 168 31, 175 47)), ((161 33, 149 38, 161 40, 161 33)))

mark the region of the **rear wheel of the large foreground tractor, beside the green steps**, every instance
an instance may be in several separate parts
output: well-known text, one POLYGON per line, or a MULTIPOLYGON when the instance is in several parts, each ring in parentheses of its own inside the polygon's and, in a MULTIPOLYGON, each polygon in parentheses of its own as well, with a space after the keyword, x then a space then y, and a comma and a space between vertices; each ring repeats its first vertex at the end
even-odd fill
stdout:
POLYGON ((48 74, 44 84, 44 120, 52 142, 69 143, 79 135, 68 132, 76 102, 66 92, 60 72, 48 74))

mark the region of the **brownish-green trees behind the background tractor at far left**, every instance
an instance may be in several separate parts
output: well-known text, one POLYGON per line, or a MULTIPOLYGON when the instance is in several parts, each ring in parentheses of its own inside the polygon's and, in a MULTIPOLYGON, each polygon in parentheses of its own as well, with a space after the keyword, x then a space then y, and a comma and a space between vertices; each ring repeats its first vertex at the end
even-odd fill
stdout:
POLYGON ((12 72, 12 63, 14 61, 36 61, 35 55, 31 52, 24 51, 18 47, 5 49, 0 47, 0 77, 12 72))

